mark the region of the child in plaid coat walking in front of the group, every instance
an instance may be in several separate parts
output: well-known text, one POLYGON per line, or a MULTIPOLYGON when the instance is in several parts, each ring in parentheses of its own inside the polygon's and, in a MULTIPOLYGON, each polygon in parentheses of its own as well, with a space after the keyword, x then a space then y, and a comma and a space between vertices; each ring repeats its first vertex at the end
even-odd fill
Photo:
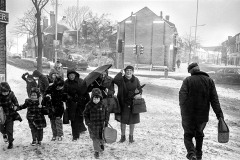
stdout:
POLYGON ((83 112, 90 138, 93 141, 94 157, 99 158, 99 152, 104 150, 102 131, 107 126, 109 114, 107 107, 102 103, 102 92, 99 88, 93 88, 91 100, 86 104, 83 112))

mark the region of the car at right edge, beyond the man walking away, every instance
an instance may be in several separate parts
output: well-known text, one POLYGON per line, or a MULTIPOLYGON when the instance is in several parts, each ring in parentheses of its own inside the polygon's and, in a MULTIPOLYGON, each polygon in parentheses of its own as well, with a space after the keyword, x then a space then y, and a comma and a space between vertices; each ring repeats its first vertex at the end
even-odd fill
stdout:
POLYGON ((216 83, 240 84, 240 68, 224 67, 207 73, 216 83))

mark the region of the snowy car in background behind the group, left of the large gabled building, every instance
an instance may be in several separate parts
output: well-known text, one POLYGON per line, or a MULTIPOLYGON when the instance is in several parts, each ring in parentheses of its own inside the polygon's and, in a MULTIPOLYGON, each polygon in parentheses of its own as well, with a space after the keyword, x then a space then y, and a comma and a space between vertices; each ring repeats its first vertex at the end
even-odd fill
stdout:
POLYGON ((76 70, 87 70, 88 63, 83 58, 82 55, 79 54, 64 54, 62 58, 58 58, 59 62, 62 63, 62 67, 64 68, 75 68, 76 70))

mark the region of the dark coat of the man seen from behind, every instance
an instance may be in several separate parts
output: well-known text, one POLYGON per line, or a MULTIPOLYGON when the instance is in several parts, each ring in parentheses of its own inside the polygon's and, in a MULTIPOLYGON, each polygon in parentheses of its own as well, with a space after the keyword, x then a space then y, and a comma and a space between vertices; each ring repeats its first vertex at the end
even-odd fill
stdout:
POLYGON ((207 122, 210 104, 217 118, 223 117, 213 80, 207 73, 195 71, 184 79, 179 91, 182 120, 207 122))

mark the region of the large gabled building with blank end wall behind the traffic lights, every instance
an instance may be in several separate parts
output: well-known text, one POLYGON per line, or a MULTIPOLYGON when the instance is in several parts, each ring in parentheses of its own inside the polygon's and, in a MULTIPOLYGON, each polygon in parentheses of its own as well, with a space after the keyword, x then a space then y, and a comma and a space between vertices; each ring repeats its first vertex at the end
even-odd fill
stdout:
POLYGON ((123 68, 124 64, 145 64, 153 67, 167 66, 174 70, 176 38, 177 29, 169 21, 169 16, 163 18, 162 12, 158 16, 144 7, 118 23, 117 39, 123 41, 123 50, 117 55, 117 67, 123 68), (135 45, 144 47, 144 53, 138 54, 138 60, 133 53, 135 45))

